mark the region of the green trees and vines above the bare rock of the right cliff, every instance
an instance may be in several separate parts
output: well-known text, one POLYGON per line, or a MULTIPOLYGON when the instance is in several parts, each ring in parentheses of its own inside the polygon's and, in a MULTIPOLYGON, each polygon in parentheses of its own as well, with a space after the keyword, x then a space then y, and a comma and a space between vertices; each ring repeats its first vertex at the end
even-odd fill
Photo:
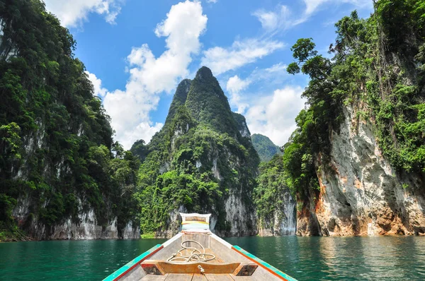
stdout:
POLYGON ((343 108, 375 128, 382 154, 399 173, 425 173, 425 2, 380 0, 368 19, 356 11, 336 23, 332 59, 318 54, 312 39, 291 48, 289 73, 304 73, 309 107, 284 145, 288 186, 300 198, 319 189, 317 173, 327 169, 331 130, 343 108), (322 163, 317 157, 322 156, 322 163))

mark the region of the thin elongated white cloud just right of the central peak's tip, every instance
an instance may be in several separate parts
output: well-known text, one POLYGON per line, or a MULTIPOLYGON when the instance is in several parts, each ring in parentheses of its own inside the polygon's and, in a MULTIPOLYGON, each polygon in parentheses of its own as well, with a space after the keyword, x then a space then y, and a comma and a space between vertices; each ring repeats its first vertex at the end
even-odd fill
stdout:
POLYGON ((233 42, 231 47, 212 47, 203 52, 201 64, 208 66, 215 76, 250 64, 263 56, 285 47, 283 42, 248 39, 233 42))

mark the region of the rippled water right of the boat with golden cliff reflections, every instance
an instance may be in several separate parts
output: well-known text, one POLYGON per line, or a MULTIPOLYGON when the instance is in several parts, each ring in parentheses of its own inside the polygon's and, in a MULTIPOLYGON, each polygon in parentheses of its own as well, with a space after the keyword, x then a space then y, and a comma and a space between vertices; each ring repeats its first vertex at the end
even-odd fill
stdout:
POLYGON ((227 239, 298 280, 425 280, 425 237, 227 239))

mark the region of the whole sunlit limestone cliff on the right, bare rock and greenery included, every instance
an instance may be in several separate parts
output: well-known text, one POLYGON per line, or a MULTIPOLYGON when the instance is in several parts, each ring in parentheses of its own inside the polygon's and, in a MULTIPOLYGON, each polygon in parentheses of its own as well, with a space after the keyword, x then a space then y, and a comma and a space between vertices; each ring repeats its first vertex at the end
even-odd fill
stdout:
POLYGON ((291 48, 288 72, 310 76, 283 155, 298 235, 425 234, 421 3, 374 1, 367 19, 353 11, 335 25, 332 59, 311 38, 291 48))

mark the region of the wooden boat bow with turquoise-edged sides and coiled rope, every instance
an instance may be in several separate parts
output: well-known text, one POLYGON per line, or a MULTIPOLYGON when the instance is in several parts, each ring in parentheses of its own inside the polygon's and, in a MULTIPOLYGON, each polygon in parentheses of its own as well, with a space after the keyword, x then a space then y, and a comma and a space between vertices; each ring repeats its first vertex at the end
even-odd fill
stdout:
POLYGON ((181 214, 182 232, 154 246, 104 281, 287 280, 292 277, 209 230, 210 215, 181 214))

